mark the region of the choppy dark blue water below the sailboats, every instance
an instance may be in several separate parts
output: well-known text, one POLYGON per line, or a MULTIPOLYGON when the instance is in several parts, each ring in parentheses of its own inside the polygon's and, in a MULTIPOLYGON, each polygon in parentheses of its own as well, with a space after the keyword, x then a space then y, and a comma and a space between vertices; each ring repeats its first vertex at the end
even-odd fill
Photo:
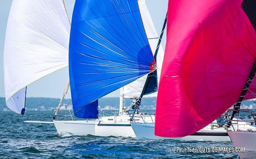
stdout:
MULTIPOLYGON (((106 115, 106 112, 105 112, 106 115)), ((66 136, 53 124, 24 120, 51 120, 51 111, 26 116, 0 112, 0 158, 238 158, 237 153, 172 153, 174 148, 233 147, 232 142, 144 140, 130 137, 66 136)))

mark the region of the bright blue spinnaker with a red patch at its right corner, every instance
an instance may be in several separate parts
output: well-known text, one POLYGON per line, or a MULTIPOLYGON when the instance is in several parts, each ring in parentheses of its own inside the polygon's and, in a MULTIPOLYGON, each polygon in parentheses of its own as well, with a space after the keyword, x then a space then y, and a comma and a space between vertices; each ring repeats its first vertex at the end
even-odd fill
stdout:
POLYGON ((137 0, 76 1, 69 43, 76 117, 97 118, 97 99, 155 69, 137 0))

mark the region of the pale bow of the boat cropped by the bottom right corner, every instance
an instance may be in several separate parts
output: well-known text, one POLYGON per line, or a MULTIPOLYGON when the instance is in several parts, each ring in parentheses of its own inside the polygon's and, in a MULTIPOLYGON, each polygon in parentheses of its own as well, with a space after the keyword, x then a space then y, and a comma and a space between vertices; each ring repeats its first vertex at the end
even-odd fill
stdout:
POLYGON ((238 153, 241 159, 256 159, 256 131, 228 131, 228 135, 236 148, 245 148, 238 153))

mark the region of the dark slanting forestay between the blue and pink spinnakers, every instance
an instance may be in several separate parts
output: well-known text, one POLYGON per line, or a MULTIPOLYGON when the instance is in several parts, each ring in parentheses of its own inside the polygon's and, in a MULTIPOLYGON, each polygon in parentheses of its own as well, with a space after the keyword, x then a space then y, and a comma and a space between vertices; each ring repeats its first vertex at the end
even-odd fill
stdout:
MULTIPOLYGON (((165 16, 165 19, 164 19, 164 25, 163 25, 163 28, 162 28, 162 31, 161 31, 161 34, 160 34, 160 37, 159 37, 159 40, 158 40, 158 43, 157 43, 157 47, 156 47, 156 51, 155 51, 155 54, 154 54, 154 59, 156 60, 156 56, 157 56, 157 52, 158 52, 158 49, 160 47, 160 44, 161 44, 161 41, 162 41, 162 37, 164 35, 164 29, 165 29, 165 25, 166 25, 166 21, 167 21, 167 13, 166 13, 166 16, 165 16)), ((156 71, 156 70, 155 70, 156 71)), ((153 71, 154 72, 154 71, 153 71)), ((144 87, 141 91, 141 94, 140 94, 140 98, 139 100, 136 102, 136 105, 134 106, 134 110, 132 112, 132 117, 131 117, 131 120, 133 119, 133 116, 135 115, 135 112, 136 110, 139 108, 140 106, 140 103, 141 103, 141 99, 143 97, 143 95, 145 94, 145 91, 146 91, 146 88, 147 88, 147 85, 148 85, 148 80, 149 80, 149 77, 152 76, 153 72, 149 73, 148 76, 147 76, 147 79, 146 79, 146 82, 144 84, 144 87)))

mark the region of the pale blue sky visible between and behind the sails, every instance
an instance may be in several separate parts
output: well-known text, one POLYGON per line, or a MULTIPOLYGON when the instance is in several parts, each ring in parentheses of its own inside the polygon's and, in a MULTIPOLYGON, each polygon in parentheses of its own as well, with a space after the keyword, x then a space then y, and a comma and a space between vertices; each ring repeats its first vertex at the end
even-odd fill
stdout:
MULTIPOLYGON (((75 0, 64 0, 64 3, 67 9, 68 17, 71 21, 75 0)), ((147 0, 146 3, 153 23, 156 27, 156 31, 159 35, 164 23, 168 1, 147 0)), ((4 97, 4 38, 11 4, 12 0, 0 0, 0 97, 4 97)), ((165 46, 165 39, 166 34, 164 34, 162 39, 163 47, 165 46)), ((66 67, 28 85, 27 97, 60 98, 67 82, 68 68, 66 67)), ((119 97, 119 90, 108 94, 106 97, 119 97)), ((71 98, 70 91, 66 95, 66 98, 71 98)))

